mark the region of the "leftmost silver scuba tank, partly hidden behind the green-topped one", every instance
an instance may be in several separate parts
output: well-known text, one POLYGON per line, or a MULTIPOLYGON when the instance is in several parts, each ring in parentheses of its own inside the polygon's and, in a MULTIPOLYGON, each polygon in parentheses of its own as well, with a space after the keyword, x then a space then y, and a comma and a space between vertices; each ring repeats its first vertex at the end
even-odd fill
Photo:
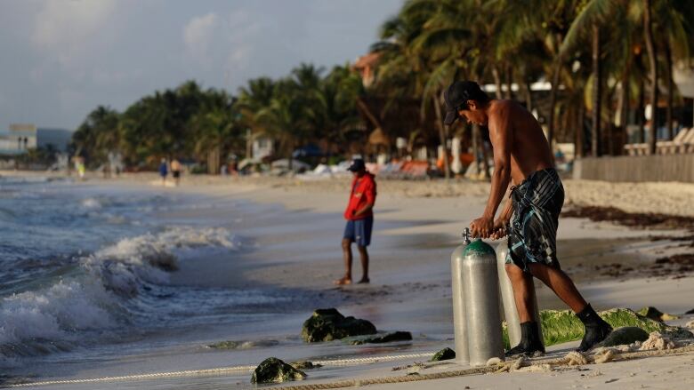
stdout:
POLYGON ((456 338, 456 362, 470 362, 467 348, 467 322, 465 320, 465 299, 463 297, 463 251, 470 243, 469 230, 463 234, 465 241, 450 255, 451 287, 453 289, 453 333, 456 338))

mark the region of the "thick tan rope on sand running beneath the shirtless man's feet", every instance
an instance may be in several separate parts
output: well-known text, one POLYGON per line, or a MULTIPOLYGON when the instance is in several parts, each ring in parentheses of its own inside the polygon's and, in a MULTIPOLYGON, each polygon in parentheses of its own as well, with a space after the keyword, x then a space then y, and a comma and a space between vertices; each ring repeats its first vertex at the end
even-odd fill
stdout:
MULTIPOLYGON (((689 346, 683 346, 681 348, 674 349, 663 349, 663 350, 650 350, 650 351, 636 351, 636 352, 624 352, 620 353, 618 351, 609 350, 610 360, 631 360, 643 357, 653 357, 653 356, 666 356, 670 354, 687 354, 694 352, 694 344, 689 346)), ((577 353, 578 354, 578 353, 577 353)), ((525 358, 519 358, 511 362, 500 362, 498 364, 493 364, 488 367, 478 367, 467 370, 453 370, 445 372, 436 372, 432 374, 421 374, 421 375, 407 375, 400 377, 383 377, 383 378, 365 378, 365 379, 348 379, 339 382, 332 383, 317 383, 311 385, 300 385, 300 386, 286 386, 282 387, 282 390, 323 390, 323 389, 334 389, 343 387, 359 387, 359 386, 369 386, 369 385, 382 385, 388 383, 401 383, 401 382, 415 382, 419 380, 431 380, 431 379, 444 379, 444 378, 455 378, 455 377, 466 377, 470 375, 487 374, 492 372, 504 372, 506 367, 513 370, 519 370, 520 368, 533 368, 533 367, 567 367, 574 364, 575 362, 586 362, 587 364, 592 364, 596 362, 593 356, 586 356, 585 354, 579 354, 578 357, 573 352, 569 352, 566 356, 559 358, 549 358, 549 359, 533 359, 532 362, 528 364, 529 361, 525 358), (528 365, 525 365, 528 364, 528 365)), ((597 358, 604 356, 605 354, 597 354, 597 358)))

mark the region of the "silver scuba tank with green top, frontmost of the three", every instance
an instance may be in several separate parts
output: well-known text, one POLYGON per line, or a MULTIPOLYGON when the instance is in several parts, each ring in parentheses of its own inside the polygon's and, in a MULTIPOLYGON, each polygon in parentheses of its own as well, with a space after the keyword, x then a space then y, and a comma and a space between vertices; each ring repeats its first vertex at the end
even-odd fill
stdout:
POLYGON ((463 251, 463 295, 471 366, 504 357, 496 253, 475 240, 463 251))

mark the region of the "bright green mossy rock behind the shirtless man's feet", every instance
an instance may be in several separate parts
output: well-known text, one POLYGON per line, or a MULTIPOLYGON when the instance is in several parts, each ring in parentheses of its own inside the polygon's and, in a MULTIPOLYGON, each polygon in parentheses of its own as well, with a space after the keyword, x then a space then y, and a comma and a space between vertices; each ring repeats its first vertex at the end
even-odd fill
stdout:
MULTIPOLYGON (((609 323, 612 328, 634 326, 647 332, 659 331, 674 338, 692 337, 689 330, 676 326, 669 326, 664 322, 658 322, 646 318, 641 314, 627 308, 613 308, 602 311, 601 318, 609 323)), ((583 338, 584 327, 577 316, 570 310, 543 310, 540 312, 542 321, 542 334, 545 346, 575 341, 583 338)), ((503 329, 504 339, 508 339, 508 330, 503 329)))

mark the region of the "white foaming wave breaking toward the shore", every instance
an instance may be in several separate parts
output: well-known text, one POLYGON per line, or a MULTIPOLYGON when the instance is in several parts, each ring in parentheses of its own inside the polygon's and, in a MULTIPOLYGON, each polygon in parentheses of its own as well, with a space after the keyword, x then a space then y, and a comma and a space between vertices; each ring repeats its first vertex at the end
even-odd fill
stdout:
MULTIPOLYGON (((173 227, 125 238, 78 261, 79 272, 36 291, 0 301, 0 354, 34 355, 85 343, 85 333, 122 329, 133 322, 138 296, 168 282, 176 251, 196 247, 237 249, 223 228, 173 227)), ((156 290, 156 289, 155 289, 156 290)), ((147 299, 145 299, 147 300, 147 299)))

